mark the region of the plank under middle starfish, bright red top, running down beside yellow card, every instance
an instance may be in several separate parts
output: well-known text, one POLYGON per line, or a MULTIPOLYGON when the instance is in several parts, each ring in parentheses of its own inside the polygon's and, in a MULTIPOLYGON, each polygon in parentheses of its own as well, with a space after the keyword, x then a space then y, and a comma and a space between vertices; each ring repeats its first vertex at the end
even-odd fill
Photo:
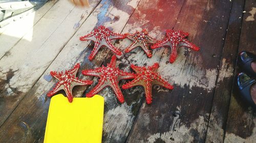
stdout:
MULTIPOLYGON (((157 37, 159 40, 164 36, 167 28, 173 28, 182 8, 184 1, 174 3, 174 1, 141 1, 132 17, 124 27, 123 33, 134 33, 146 28, 150 35, 157 37), (159 11, 160 10, 160 11, 159 11), (166 13, 172 13, 165 17, 166 13), (163 17, 164 20, 161 20, 163 17)), ((124 48, 129 46, 131 41, 128 39, 119 40, 115 45, 124 48)), ((147 58, 146 54, 140 48, 134 49, 130 53, 125 53, 117 61, 120 69, 130 72, 130 64, 138 66, 153 65, 159 62, 163 49, 153 51, 153 57, 147 58)), ((111 57, 108 56, 109 58, 111 57)), ((107 58, 108 59, 108 58, 107 58)), ((108 61, 108 60, 107 60, 108 61)), ((104 62, 103 65, 105 65, 104 62)), ((95 78, 94 78, 95 79, 95 78)), ((124 81, 121 81, 121 85, 124 81)), ((87 92, 90 88, 87 90, 87 92)), ((122 90, 125 103, 119 105, 113 91, 109 88, 100 92, 105 98, 105 112, 103 124, 103 142, 125 142, 134 120, 137 116, 141 103, 144 102, 144 89, 135 87, 129 90, 122 90)))

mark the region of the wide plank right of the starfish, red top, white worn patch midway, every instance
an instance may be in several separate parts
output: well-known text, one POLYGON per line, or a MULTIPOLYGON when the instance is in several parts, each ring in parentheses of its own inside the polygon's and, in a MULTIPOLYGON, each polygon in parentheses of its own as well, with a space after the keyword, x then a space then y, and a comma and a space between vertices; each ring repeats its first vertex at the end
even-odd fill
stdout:
POLYGON ((158 72, 175 89, 155 87, 126 142, 204 142, 230 8, 229 1, 185 2, 174 29, 188 32, 201 50, 179 48, 173 64, 164 50, 158 72))

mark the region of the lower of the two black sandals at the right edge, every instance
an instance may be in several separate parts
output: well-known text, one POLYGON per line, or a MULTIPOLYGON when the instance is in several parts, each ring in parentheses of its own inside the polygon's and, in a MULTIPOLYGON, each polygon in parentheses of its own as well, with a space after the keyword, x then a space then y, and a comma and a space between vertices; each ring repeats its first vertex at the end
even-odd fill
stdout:
POLYGON ((238 75, 238 88, 245 100, 247 100, 253 107, 256 107, 256 104, 251 98, 250 88, 253 83, 256 83, 256 80, 250 78, 245 73, 240 73, 238 75))

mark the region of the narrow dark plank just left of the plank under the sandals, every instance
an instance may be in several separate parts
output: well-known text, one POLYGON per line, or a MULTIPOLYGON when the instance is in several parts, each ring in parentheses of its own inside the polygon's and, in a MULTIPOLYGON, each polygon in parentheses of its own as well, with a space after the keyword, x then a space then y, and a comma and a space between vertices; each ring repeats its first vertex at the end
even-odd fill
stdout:
POLYGON ((205 142, 223 142, 231 96, 234 69, 241 34, 244 1, 232 1, 227 35, 222 52, 220 71, 210 112, 205 142))

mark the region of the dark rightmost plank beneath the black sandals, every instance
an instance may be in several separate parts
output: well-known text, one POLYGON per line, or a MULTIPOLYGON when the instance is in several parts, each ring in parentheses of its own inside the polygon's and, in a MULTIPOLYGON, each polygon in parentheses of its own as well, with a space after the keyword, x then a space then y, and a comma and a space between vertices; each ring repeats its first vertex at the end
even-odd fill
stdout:
MULTIPOLYGON (((255 1, 245 1, 244 11, 239 51, 246 50, 256 54, 255 1)), ((237 69, 236 73, 239 72, 242 70, 237 69)), ((240 96, 236 79, 233 84, 227 118, 224 142, 255 142, 256 112, 240 96)))

